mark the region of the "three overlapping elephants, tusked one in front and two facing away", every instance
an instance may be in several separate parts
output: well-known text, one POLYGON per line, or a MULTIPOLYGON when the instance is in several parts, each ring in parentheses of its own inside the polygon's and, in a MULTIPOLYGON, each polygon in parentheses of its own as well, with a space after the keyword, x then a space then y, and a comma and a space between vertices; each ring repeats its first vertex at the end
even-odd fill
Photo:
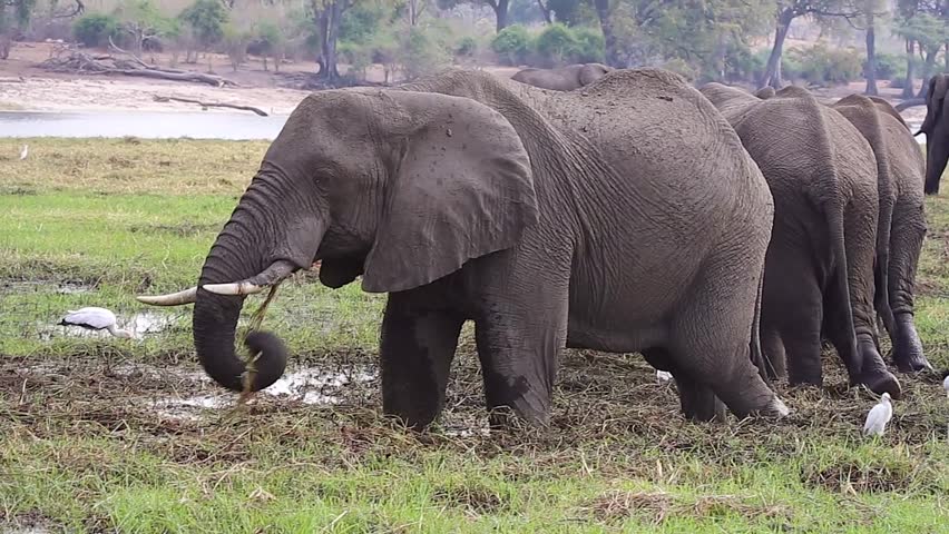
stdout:
POLYGON ((547 421, 565 347, 643 354, 697 421, 786 415, 770 382, 820 385, 825 340, 851 385, 898 398, 879 324, 899 370, 930 367, 913 326, 926 162, 889 103, 529 73, 307 96, 197 286, 139 300, 194 303, 206 373, 258 390, 287 349, 258 330, 253 366, 237 357, 245 296, 317 260, 325 286, 361 276, 388 294, 383 412, 415 428, 444 405, 466 320, 493 425, 547 421))

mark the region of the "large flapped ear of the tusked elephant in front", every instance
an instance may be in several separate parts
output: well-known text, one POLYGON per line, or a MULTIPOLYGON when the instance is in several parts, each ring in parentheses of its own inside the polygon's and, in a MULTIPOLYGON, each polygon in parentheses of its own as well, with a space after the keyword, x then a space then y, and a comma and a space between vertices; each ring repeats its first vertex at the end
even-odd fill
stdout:
POLYGON ((363 289, 412 289, 516 245, 538 211, 530 160, 510 122, 468 98, 385 97, 385 112, 408 127, 399 119, 387 132, 393 161, 363 289))

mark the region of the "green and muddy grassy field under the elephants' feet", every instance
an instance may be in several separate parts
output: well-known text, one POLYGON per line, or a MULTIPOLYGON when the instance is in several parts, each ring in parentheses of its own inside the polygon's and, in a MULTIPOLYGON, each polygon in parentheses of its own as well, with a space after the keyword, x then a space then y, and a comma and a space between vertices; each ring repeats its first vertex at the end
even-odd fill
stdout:
MULTIPOLYGON (((835 358, 822 389, 776 386, 785 421, 698 425, 639 356, 567 352, 550 428, 487 435, 468 332, 450 408, 414 434, 380 416, 372 373, 353 378, 383 300, 300 274, 265 325, 291 372, 350 379, 319 386, 333 403, 235 411, 202 376, 189 307, 134 296, 194 284, 266 146, 0 140, 0 532, 949 532, 938 377, 902 377, 890 432, 863 439, 874 397, 835 358), (89 305, 154 332, 55 326, 89 305)), ((927 209, 917 320, 946 368, 949 199, 927 209)))

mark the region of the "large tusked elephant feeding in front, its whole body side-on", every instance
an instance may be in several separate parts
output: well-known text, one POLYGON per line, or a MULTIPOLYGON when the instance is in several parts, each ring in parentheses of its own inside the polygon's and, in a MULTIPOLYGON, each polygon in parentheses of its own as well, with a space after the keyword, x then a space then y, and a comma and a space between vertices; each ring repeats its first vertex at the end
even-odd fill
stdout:
MULTIPOLYGON (((329 287, 361 275, 389 294, 383 412, 412 427, 442 408, 468 319, 492 414, 545 423, 566 345, 644 352, 692 418, 724 415, 716 395, 782 415, 750 356, 772 215, 734 131, 675 75, 617 71, 581 96, 453 71, 306 97, 197 288, 139 299, 196 299, 198 358, 236 390, 243 295, 314 260, 329 287)), ((286 355, 272 334, 250 343, 256 390, 286 355)))

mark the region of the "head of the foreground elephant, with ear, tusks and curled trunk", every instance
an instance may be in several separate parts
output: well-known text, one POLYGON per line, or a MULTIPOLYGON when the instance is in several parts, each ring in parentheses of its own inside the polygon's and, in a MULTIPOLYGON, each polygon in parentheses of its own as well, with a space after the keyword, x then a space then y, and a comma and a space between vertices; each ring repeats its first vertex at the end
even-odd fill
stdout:
MULTIPOLYGON (((412 289, 511 247, 537 217, 527 152, 497 111, 428 92, 321 91, 268 148, 198 285, 139 300, 194 301, 202 366, 241 390, 234 342, 246 295, 316 260, 329 287, 362 275, 366 291, 412 289)), ((260 353, 251 389, 267 387, 286 349, 268 334, 245 343, 260 353)))

